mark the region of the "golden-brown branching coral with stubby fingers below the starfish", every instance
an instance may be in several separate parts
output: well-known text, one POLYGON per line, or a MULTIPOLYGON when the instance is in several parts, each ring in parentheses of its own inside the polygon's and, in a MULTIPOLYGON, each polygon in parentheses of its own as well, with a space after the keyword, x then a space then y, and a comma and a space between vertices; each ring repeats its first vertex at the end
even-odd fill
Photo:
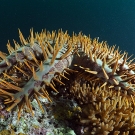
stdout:
POLYGON ((135 134, 135 102, 126 92, 92 81, 75 81, 70 91, 82 109, 84 135, 135 134))

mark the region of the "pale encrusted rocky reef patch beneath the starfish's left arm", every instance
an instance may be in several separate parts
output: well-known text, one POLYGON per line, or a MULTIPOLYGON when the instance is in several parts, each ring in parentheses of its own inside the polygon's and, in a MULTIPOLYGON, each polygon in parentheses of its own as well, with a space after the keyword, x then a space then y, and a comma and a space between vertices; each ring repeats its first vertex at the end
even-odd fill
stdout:
POLYGON ((62 119, 61 117, 58 118, 58 116, 57 116, 58 119, 55 119, 55 116, 59 115, 58 110, 59 108, 61 108, 58 105, 59 103, 63 104, 63 110, 67 109, 67 111, 74 110, 74 108, 77 108, 75 106, 76 104, 69 100, 57 99, 55 101, 53 98, 51 99, 53 102, 49 102, 47 98, 46 99, 39 98, 42 107, 45 109, 44 113, 38 106, 38 103, 35 99, 31 102, 33 112, 34 112, 34 117, 30 115, 27 107, 24 107, 21 113, 21 118, 18 121, 17 120, 18 108, 14 109, 14 111, 10 112, 7 117, 0 118, 0 131, 2 130, 3 130, 2 132, 13 131, 14 135, 19 135, 20 133, 26 135, 41 135, 41 134, 42 135, 59 135, 59 134, 75 135, 74 131, 67 126, 68 116, 63 115, 62 119), (72 104, 72 106, 69 105, 69 103, 72 104), (57 111, 55 107, 58 107, 57 111))

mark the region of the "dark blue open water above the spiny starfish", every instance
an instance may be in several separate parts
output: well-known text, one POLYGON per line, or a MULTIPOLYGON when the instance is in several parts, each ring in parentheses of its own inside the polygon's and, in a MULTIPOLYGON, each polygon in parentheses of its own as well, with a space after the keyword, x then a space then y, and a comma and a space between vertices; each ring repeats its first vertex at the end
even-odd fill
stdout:
POLYGON ((0 50, 6 51, 9 39, 19 41, 35 31, 68 30, 99 37, 109 45, 135 54, 134 0, 2 0, 0 3, 0 50))

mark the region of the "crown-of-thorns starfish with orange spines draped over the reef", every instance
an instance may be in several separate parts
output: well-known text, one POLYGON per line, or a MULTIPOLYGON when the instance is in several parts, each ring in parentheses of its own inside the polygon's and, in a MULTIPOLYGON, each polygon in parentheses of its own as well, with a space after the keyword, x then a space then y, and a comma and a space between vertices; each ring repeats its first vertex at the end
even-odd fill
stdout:
MULTIPOLYGON (((30 97, 34 96, 43 110, 38 96, 49 97, 47 87, 58 93, 55 83, 65 85, 62 79, 72 80, 74 73, 77 80, 99 82, 100 87, 114 88, 134 96, 134 64, 128 60, 127 53, 121 53, 115 46, 106 42, 90 39, 79 33, 70 37, 59 30, 33 33, 25 39, 19 30, 21 45, 14 41, 15 47, 8 42, 9 55, 0 53, 0 96, 7 110, 26 104, 33 114, 30 97)), ((65 86, 67 87, 67 86, 65 86)))

